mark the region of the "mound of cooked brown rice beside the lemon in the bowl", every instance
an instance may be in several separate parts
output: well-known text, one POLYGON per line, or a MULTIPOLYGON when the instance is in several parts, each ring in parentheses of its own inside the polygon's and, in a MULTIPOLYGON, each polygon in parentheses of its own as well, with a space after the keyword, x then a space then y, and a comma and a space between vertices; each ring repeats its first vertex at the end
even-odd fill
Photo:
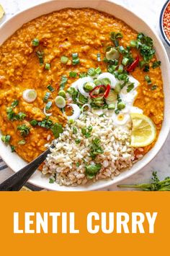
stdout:
POLYGON ((130 147, 130 127, 114 127, 109 116, 97 116, 90 112, 81 114, 74 124, 67 124, 63 134, 55 140, 55 148, 51 149, 43 174, 51 174, 51 178, 60 185, 76 186, 86 184, 86 164, 101 163, 102 168, 92 179, 113 179, 125 168, 133 166, 134 149, 130 147), (91 137, 81 134, 81 128, 92 126, 91 137), (73 134, 73 127, 77 134, 73 134), (90 145, 94 138, 101 140, 104 153, 97 155, 94 161, 90 157, 90 145), (81 142, 76 144, 75 140, 81 142), (79 163, 79 167, 76 166, 79 163))

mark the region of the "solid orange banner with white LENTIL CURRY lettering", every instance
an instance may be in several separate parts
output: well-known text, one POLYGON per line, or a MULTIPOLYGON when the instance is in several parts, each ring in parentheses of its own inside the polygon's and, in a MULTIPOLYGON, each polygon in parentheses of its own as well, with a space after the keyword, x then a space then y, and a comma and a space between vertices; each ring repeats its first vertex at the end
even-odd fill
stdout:
POLYGON ((169 192, 0 192, 1 255, 169 255, 169 192))

